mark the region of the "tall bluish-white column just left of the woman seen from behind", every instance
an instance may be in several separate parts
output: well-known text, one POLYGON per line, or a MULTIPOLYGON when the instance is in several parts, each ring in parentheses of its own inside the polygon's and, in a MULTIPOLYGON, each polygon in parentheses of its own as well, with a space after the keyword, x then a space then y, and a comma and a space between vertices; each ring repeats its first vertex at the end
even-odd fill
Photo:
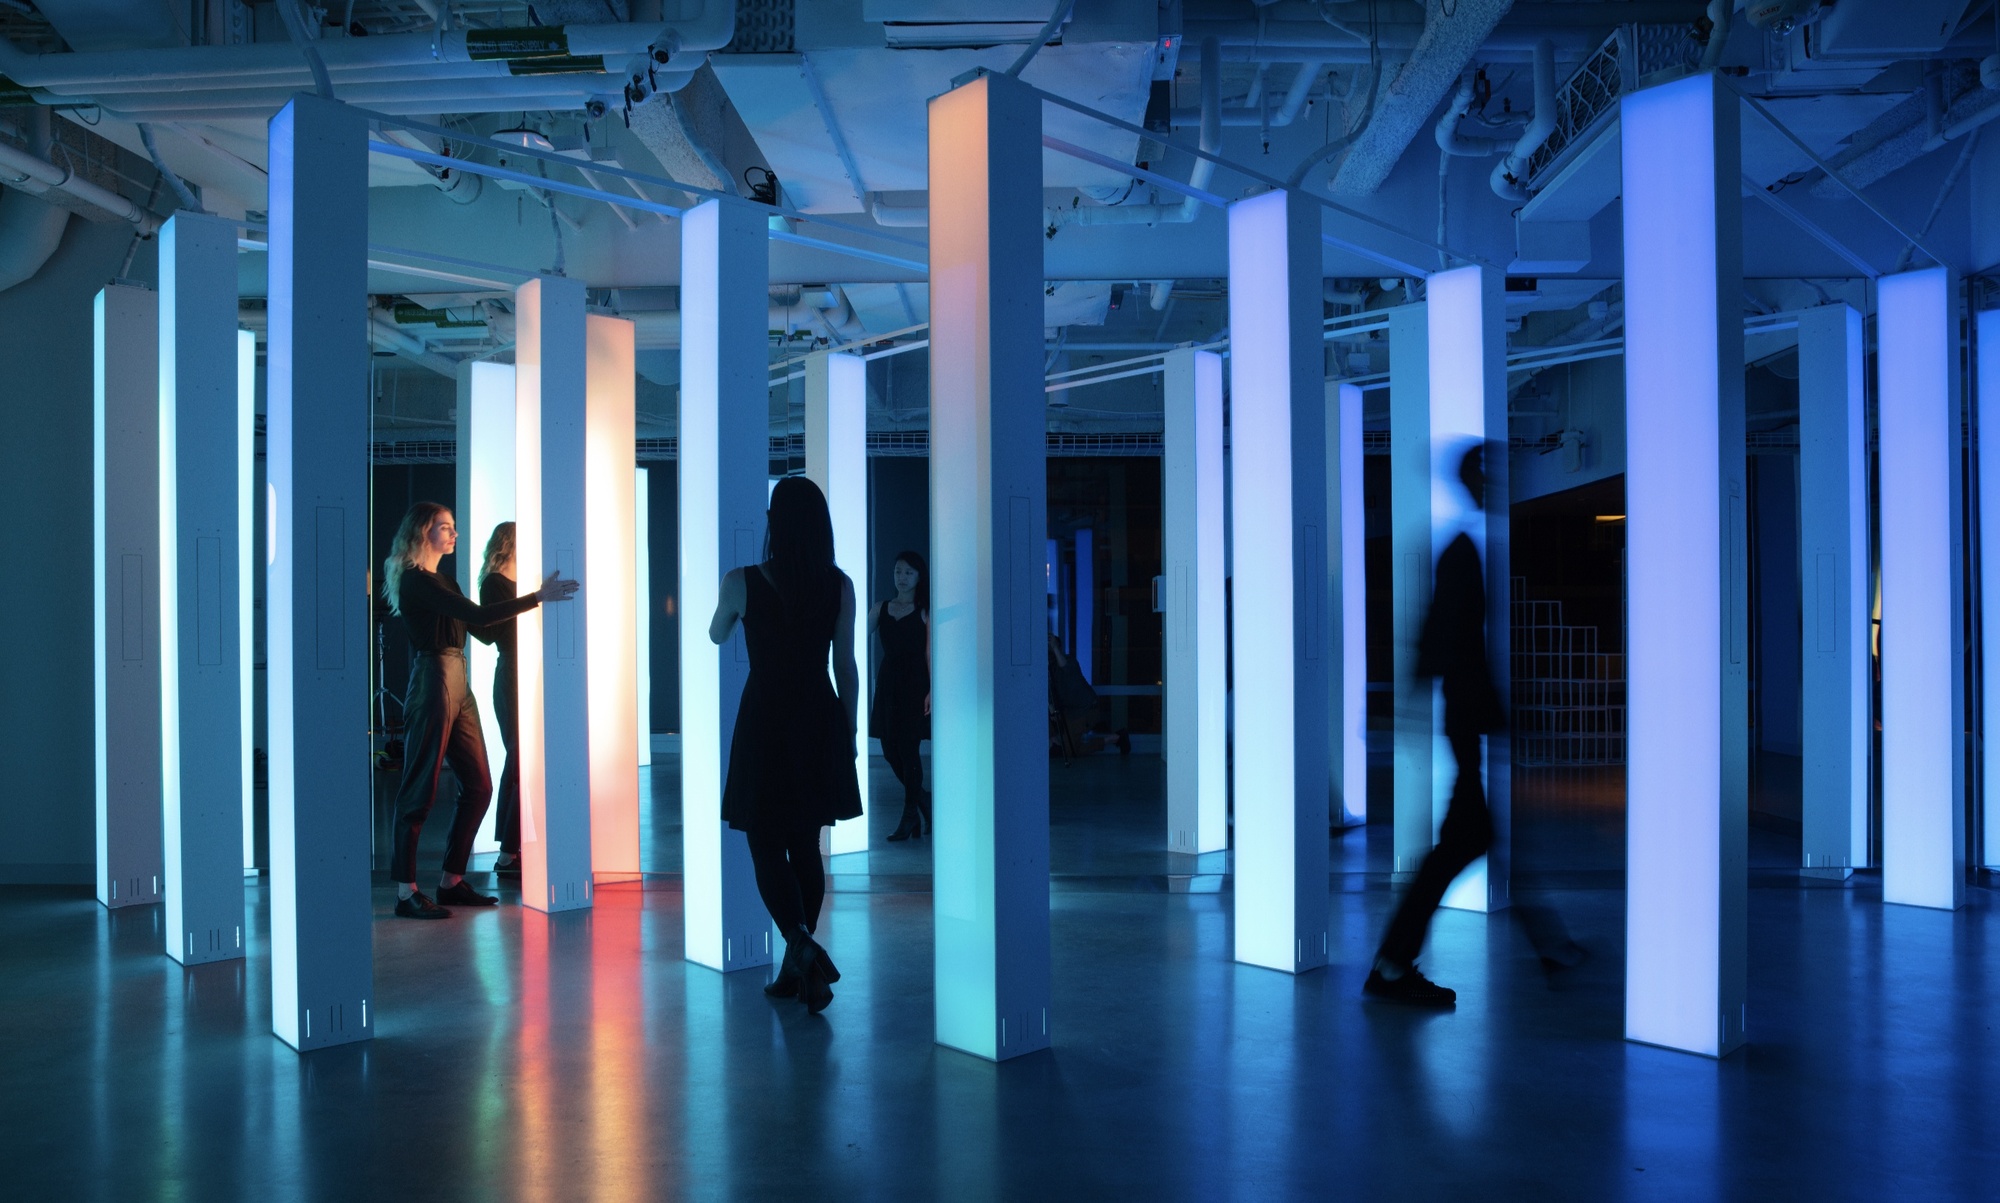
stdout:
MULTIPOLYGON (((710 969, 772 961, 750 845, 722 821, 742 629, 716 647, 722 574, 762 560, 770 478, 770 240, 764 212, 710 200, 680 222, 680 829, 688 959, 710 969)), ((756 572, 752 568, 752 572, 756 572)))

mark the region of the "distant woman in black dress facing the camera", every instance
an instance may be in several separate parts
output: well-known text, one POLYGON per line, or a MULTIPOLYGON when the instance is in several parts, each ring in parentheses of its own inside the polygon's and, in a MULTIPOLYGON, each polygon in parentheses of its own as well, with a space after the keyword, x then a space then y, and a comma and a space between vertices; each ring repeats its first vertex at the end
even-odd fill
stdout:
POLYGON ((930 827, 924 759, 916 753, 930 739, 930 572, 922 556, 902 552, 890 580, 896 596, 868 611, 868 629, 882 639, 868 733, 882 741, 882 759, 902 783, 902 821, 890 839, 910 839, 930 827))

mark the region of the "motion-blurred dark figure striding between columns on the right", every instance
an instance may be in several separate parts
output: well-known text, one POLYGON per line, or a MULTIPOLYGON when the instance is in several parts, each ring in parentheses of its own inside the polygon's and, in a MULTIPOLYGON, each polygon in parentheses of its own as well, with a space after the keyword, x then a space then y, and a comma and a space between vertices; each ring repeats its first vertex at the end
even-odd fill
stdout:
MULTIPOLYGON (((1458 480, 1472 494, 1472 506, 1484 510, 1484 444, 1466 448, 1458 460, 1458 480)), ((1418 973, 1416 955, 1430 931, 1430 917, 1444 901, 1444 889, 1492 845, 1480 739, 1506 725, 1506 709, 1486 657, 1486 570, 1466 532, 1438 556, 1430 613, 1424 615, 1416 643, 1416 675, 1442 685, 1444 739, 1452 745, 1458 777, 1452 781, 1438 845, 1424 857, 1390 917, 1362 993, 1418 1007, 1452 1007, 1458 993, 1418 973)))

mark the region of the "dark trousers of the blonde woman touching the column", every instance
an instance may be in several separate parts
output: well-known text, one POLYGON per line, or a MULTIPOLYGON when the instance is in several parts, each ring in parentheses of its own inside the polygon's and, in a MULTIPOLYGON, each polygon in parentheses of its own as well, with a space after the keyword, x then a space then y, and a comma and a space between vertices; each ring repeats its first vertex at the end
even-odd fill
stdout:
POLYGON ((388 871, 392 881, 416 883, 416 839, 438 801, 444 765, 458 777, 458 805, 452 833, 444 843, 444 871, 464 873, 472 857, 494 783, 486 767, 486 739, 480 735, 480 705, 466 687, 466 657, 460 651, 418 653, 410 661, 410 695, 404 713, 402 787, 396 789, 396 849, 388 871))

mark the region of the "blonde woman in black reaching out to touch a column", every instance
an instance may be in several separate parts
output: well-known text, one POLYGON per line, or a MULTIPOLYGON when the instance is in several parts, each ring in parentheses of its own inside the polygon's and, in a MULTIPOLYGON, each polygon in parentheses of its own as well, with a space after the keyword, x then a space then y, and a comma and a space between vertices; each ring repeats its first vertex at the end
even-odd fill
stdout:
POLYGON ((410 693, 404 697, 402 787, 396 789, 396 849, 390 879, 396 881, 396 913, 406 919, 444 919, 444 909, 416 889, 416 839, 438 799, 438 773, 452 765, 458 777, 458 807, 444 847, 444 877, 438 899, 468 907, 490 907, 496 897, 466 885, 472 837, 486 817, 492 773, 486 767, 486 739, 480 735, 480 707, 466 687, 466 629, 478 629, 534 609, 542 602, 568 602, 576 582, 548 574, 542 588, 502 605, 474 605, 458 592, 458 582, 438 576, 438 562, 458 546, 452 512, 436 502, 418 502, 402 516, 396 542, 382 566, 382 592, 410 631, 410 693))

